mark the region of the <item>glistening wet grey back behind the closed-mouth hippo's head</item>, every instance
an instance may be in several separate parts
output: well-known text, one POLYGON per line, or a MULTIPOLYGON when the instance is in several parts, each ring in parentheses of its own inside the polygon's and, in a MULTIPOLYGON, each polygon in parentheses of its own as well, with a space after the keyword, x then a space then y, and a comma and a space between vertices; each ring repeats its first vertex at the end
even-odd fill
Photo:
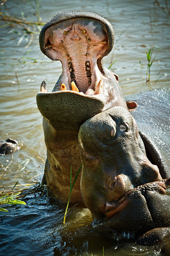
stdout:
POLYGON ((169 89, 154 89, 126 98, 135 100, 138 104, 132 115, 137 122, 147 157, 158 166, 162 178, 168 178, 170 176, 169 89))

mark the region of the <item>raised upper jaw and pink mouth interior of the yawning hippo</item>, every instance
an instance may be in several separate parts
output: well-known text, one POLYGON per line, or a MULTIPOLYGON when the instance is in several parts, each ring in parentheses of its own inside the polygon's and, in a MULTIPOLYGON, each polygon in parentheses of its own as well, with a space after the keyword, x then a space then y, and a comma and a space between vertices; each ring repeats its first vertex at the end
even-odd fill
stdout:
POLYGON ((54 91, 65 84, 63 90, 100 94, 101 58, 111 51, 113 43, 114 30, 101 16, 81 11, 57 14, 40 33, 41 51, 51 60, 60 60, 63 66, 54 91))

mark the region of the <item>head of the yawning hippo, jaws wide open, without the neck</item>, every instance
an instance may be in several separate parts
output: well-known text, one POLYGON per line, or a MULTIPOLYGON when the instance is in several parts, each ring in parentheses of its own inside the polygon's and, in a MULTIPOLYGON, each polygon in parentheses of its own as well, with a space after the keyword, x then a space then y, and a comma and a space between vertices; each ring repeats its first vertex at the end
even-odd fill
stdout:
POLYGON ((37 106, 54 128, 79 129, 113 106, 134 108, 124 100, 118 76, 102 64, 114 44, 114 30, 106 19, 93 12, 61 12, 42 28, 39 41, 45 55, 62 62, 53 92, 47 92, 43 81, 37 94, 37 106))

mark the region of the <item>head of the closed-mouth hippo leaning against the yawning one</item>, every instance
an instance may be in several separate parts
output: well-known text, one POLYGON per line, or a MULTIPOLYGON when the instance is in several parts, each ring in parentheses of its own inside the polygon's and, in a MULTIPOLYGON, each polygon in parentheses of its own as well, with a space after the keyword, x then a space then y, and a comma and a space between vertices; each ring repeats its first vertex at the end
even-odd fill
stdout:
POLYGON ((95 220, 117 231, 147 230, 156 218, 167 220, 165 184, 140 149, 137 124, 127 109, 114 107, 93 116, 81 125, 78 137, 81 194, 95 220), (158 205, 165 211, 157 214, 158 205))

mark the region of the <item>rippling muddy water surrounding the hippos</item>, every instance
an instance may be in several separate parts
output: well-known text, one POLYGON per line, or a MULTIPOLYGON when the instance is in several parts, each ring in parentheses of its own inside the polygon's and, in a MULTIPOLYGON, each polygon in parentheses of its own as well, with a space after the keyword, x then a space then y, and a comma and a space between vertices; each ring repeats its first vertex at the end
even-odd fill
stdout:
MULTIPOLYGON (((149 90, 150 86, 168 87, 170 31, 166 1, 42 0, 40 6, 42 21, 48 21, 55 13, 65 9, 99 12, 114 24, 115 63, 112 70, 120 77, 119 84, 124 95, 149 90), (147 66, 145 52, 152 46, 159 47, 160 50, 155 59, 157 62, 151 67, 149 86, 145 83, 147 66), (144 64, 142 69, 139 58, 144 64)), ((36 21, 35 11, 26 1, 7 0, 1 5, 0 11, 15 17, 20 17, 21 12, 24 12, 26 20, 36 21)), ((4 24, 6 23, 1 22, 1 26, 4 24)), ((11 155, 0 156, 0 186, 6 185, 6 188, 8 185, 14 186, 17 181, 17 185, 41 181, 46 147, 42 117, 37 110, 35 97, 40 90, 42 80, 46 81, 48 92, 52 91, 62 70, 59 62, 50 61, 47 57, 43 58, 36 39, 27 49, 24 48, 27 44, 25 39, 17 46, 22 35, 8 33, 11 29, 8 26, 0 28, 0 138, 19 140, 20 149, 13 154, 13 159, 11 155), (23 55, 24 58, 18 61, 23 55), (19 85, 15 72, 18 75, 19 85)), ((17 28, 14 30, 20 31, 17 28)), ((38 38, 36 35, 35 37, 38 38)), ((106 67, 110 65, 113 52, 104 59, 106 67)), ((153 57, 156 52, 157 50, 153 52, 153 57)), ((89 212, 78 206, 70 210, 66 219, 67 224, 63 227, 66 206, 50 198, 47 199, 46 195, 35 201, 37 198, 38 195, 29 196, 26 206, 12 207, 8 213, 1 214, 3 222, 0 224, 0 255, 93 254, 99 256, 103 255, 103 247, 104 255, 107 256, 159 255, 158 248, 121 242, 118 238, 116 240, 112 237, 113 232, 102 233, 99 227, 92 228, 89 212)))

